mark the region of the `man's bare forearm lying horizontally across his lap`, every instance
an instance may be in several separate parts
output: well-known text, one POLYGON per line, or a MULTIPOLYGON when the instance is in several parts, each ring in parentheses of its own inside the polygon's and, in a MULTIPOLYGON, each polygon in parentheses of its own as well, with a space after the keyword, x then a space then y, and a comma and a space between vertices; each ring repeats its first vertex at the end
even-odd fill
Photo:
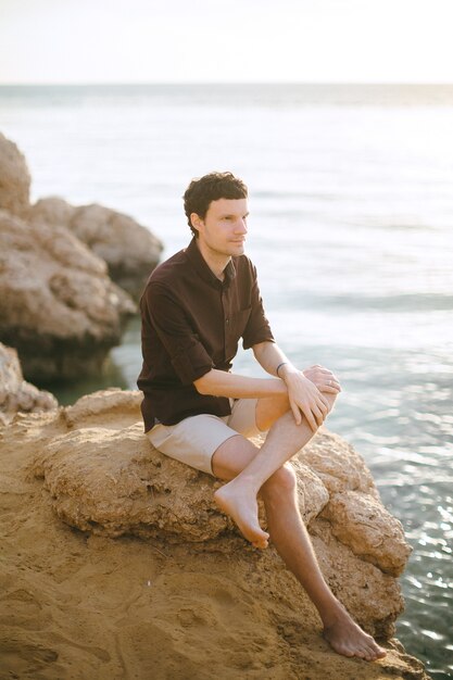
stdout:
POLYGON ((234 399, 261 399, 287 393, 285 382, 279 378, 250 378, 216 368, 212 368, 193 385, 200 394, 234 399))

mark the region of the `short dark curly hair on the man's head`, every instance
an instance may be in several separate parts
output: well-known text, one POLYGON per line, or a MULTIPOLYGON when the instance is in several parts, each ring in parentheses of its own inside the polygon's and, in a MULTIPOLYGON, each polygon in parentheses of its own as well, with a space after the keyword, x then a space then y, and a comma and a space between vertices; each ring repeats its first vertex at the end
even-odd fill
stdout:
POLYGON ((232 173, 210 173, 198 179, 192 179, 184 194, 184 212, 193 236, 198 238, 198 230, 190 222, 190 215, 196 213, 201 219, 206 216, 212 201, 218 199, 247 199, 247 186, 232 173))

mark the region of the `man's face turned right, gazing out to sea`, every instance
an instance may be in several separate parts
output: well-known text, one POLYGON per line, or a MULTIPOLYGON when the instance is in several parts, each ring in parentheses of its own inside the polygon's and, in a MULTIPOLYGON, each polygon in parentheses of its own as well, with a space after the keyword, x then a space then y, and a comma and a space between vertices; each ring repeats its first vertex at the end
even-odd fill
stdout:
POLYGON ((196 215, 192 222, 200 241, 213 253, 242 255, 248 215, 247 199, 218 199, 210 203, 204 219, 196 215))

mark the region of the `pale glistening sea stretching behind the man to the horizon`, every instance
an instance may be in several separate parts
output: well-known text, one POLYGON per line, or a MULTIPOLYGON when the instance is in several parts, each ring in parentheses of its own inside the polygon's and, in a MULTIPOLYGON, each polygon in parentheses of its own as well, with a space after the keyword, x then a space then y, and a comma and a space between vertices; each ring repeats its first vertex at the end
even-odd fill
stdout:
MULTIPOLYGON (((299 367, 338 376, 328 427, 365 457, 414 549, 397 635, 452 678, 453 85, 3 86, 0 130, 33 200, 127 213, 163 259, 190 240, 190 179, 243 178, 274 335, 299 367)), ((60 401, 136 388, 139 333, 136 319, 103 377, 51 386, 60 401)), ((263 375, 250 351, 234 370, 263 375)))

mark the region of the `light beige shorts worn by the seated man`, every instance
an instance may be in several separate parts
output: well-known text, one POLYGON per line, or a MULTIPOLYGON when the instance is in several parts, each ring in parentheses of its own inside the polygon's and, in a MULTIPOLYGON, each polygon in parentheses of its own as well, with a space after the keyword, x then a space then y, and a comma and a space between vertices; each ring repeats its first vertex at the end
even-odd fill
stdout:
POLYGON ((231 415, 190 416, 176 425, 161 423, 147 432, 155 449, 198 470, 212 475, 212 456, 230 437, 257 437, 255 410, 257 399, 230 400, 231 415))

